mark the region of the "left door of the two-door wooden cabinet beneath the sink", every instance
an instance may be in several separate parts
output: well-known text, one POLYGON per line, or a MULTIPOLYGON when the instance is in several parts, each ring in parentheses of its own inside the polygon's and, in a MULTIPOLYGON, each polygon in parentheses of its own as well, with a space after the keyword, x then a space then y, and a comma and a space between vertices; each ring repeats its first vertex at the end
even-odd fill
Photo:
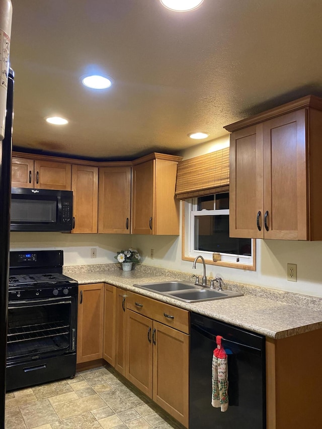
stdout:
POLYGON ((126 378, 152 398, 152 320, 126 312, 126 378))

